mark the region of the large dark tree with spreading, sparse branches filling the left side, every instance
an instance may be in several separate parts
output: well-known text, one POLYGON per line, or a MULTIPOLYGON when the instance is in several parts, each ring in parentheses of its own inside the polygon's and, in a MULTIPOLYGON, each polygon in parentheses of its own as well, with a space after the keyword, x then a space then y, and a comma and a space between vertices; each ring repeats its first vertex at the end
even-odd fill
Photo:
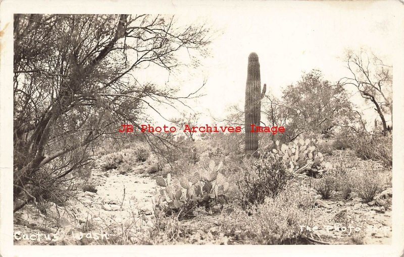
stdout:
POLYGON ((205 25, 179 26, 171 16, 14 18, 14 200, 23 200, 15 211, 35 191, 72 179, 120 124, 137 126, 147 108, 182 102, 176 90, 136 76, 175 69, 183 50, 197 64, 210 44, 205 25))

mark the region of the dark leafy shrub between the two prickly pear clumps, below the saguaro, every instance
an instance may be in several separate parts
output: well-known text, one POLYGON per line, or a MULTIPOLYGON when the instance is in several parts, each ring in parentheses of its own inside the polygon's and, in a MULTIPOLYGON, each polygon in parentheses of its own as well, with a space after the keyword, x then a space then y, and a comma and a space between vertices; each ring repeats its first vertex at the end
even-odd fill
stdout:
POLYGON ((262 204, 267 197, 276 196, 292 177, 280 158, 263 154, 258 160, 244 160, 244 171, 236 183, 243 208, 262 204))

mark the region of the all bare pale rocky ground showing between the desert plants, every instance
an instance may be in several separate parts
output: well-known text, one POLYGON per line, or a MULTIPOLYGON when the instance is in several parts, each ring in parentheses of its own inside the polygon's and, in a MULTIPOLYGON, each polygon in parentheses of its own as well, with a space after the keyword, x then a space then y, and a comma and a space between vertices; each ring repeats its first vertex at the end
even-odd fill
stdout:
MULTIPOLYGON (((391 176, 391 171, 376 162, 359 160, 345 152, 339 152, 339 158, 341 154, 347 154, 349 161, 354 163, 350 169, 361 169, 366 162, 387 178, 391 176)), ((336 156, 328 156, 327 159, 335 162, 336 156)), ((347 156, 344 156, 345 159, 347 156)), ((69 211, 55 204, 49 206, 46 213, 39 212, 33 205, 18 211, 14 218, 15 244, 119 243, 119 237, 125 236, 129 228, 134 228, 141 235, 153 227, 153 203, 159 186, 153 175, 142 172, 147 164, 139 163, 131 172, 120 174, 114 169, 104 171, 100 167, 101 160, 97 162, 91 172, 91 178, 97 181, 97 191, 78 192, 74 199, 67 202, 69 208, 66 209, 69 211)), ((309 179, 302 178, 301 186, 307 188, 309 179)), ((355 194, 350 200, 341 200, 338 195, 329 200, 316 196, 317 208, 313 212, 316 222, 313 227, 301 226, 301 229, 311 230, 317 243, 388 244, 391 242, 391 207, 385 206, 391 197, 391 187, 368 204, 355 194)), ((217 230, 215 219, 220 215, 223 214, 181 222, 188 229, 195 229, 195 233, 211 233, 217 230)), ((229 236, 221 243, 243 242, 229 236)))

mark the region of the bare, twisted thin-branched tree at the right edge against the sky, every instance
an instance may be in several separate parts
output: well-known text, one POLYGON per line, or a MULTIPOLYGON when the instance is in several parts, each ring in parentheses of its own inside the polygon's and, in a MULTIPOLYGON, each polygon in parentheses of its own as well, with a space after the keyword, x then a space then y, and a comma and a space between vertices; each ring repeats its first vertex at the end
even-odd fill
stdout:
POLYGON ((392 129, 387 125, 386 115, 390 114, 393 122, 392 67, 385 65, 374 53, 368 54, 363 49, 358 53, 347 51, 344 61, 352 76, 342 78, 339 84, 355 86, 361 96, 374 105, 385 135, 392 129))

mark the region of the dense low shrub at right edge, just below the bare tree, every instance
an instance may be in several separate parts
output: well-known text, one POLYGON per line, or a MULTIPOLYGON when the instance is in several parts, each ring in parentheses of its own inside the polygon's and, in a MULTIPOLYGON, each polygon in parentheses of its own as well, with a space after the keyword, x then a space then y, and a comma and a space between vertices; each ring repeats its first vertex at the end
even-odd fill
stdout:
POLYGON ((351 149, 364 160, 378 160, 385 166, 392 166, 392 136, 361 135, 350 141, 351 149))

